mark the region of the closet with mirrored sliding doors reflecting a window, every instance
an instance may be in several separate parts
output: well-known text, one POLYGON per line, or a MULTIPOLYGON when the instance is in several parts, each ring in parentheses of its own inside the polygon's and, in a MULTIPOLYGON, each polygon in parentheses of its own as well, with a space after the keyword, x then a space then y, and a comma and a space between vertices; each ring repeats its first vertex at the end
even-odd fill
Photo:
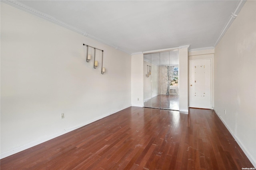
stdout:
POLYGON ((179 51, 143 56, 144 107, 179 110, 179 51))

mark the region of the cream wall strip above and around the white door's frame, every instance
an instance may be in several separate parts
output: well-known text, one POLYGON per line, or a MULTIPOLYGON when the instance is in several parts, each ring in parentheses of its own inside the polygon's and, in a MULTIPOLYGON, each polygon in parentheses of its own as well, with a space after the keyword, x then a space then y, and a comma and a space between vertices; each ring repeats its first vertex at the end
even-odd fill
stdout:
MULTIPOLYGON (((210 59, 212 64, 212 109, 214 108, 214 49, 188 52, 188 60, 210 59)), ((188 79, 190 80, 190 79, 188 79)), ((188 82, 190 83, 190 82, 188 82)), ((190 88, 188 88, 189 90, 190 88)), ((189 92, 188 92, 189 94, 189 92)), ((189 100, 188 100, 189 101, 189 100)))

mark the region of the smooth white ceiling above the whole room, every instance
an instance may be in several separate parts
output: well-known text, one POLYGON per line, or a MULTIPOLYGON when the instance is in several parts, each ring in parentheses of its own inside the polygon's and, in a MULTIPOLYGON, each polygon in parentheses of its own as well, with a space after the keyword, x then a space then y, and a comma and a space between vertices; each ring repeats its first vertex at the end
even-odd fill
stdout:
POLYGON ((46 19, 52 18, 51 21, 54 20, 57 24, 68 25, 68 28, 84 36, 129 54, 136 54, 186 45, 190 45, 190 49, 214 48, 241 1, 15 2, 28 7, 30 11, 38 12, 46 19))

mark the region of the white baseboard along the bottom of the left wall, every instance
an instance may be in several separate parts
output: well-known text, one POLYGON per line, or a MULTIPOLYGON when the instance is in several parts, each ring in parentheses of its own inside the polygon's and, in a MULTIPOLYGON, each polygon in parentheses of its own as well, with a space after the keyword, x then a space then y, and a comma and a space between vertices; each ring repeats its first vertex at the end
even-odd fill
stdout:
POLYGON ((7 156, 11 156, 11 155, 13 155, 13 154, 16 154, 16 153, 18 153, 18 152, 21 152, 21 151, 23 151, 23 150, 26 150, 26 149, 31 148, 31 147, 33 147, 33 146, 36 146, 36 145, 38 145, 38 144, 42 144, 43 142, 46 142, 46 141, 48 141, 48 140, 51 140, 51 139, 53 139, 53 138, 56 138, 56 137, 61 136, 61 135, 63 135, 63 134, 66 134, 66 133, 71 132, 71 131, 73 131, 73 130, 76 130, 76 129, 78 129, 78 128, 81 128, 82 126, 86 126, 86 125, 88 125, 88 124, 90 124, 90 123, 92 123, 92 122, 95 122, 95 121, 97 121, 97 120, 100 120, 100 119, 102 119, 102 118, 105 118, 105 117, 107 117, 107 116, 109 116, 109 115, 111 115, 111 114, 114 114, 114 113, 116 113, 116 112, 119 112, 119 111, 121 111, 121 110, 124 110, 124 109, 126 109, 126 108, 128 108, 128 107, 130 107, 130 105, 129 105, 129 106, 125 106, 125 107, 123 107, 123 108, 120 108, 120 109, 118 109, 118 110, 116 110, 116 111, 114 111, 114 112, 101 115, 101 116, 99 116, 99 117, 97 117, 97 118, 94 118, 94 119, 92 119, 92 120, 89 120, 89 121, 87 121, 87 122, 84 122, 84 124, 80 124, 80 125, 78 125, 78 126, 76 126, 76 127, 64 129, 64 130, 62 130, 61 132, 58 132, 58 133, 56 133, 56 134, 47 136, 46 138, 42 138, 42 139, 40 139, 40 140, 36 140, 36 141, 30 142, 30 143, 28 143, 28 144, 25 144, 25 145, 23 145, 23 146, 19 146, 19 147, 17 147, 17 148, 13 148, 12 150, 8 150, 8 151, 6 151, 6 152, 3 152, 3 153, 0 154, 0 159, 6 158, 7 156))

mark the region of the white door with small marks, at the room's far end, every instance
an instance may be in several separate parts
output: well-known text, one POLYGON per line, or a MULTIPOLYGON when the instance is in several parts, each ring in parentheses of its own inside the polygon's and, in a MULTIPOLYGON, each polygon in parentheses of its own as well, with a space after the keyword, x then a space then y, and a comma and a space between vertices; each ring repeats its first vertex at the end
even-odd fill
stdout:
POLYGON ((211 70, 211 59, 189 61, 190 107, 211 109, 211 70))

